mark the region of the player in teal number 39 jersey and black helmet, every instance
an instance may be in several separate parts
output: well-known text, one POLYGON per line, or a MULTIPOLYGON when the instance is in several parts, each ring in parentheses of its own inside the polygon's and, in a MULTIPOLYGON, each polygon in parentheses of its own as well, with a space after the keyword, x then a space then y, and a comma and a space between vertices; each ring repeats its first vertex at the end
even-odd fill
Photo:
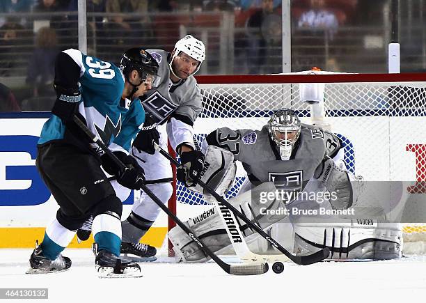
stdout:
POLYGON ((77 229, 93 215, 97 271, 107 277, 139 274, 137 263, 119 258, 123 205, 102 168, 123 187, 140 189, 143 169, 129 150, 145 121, 139 96, 151 88, 159 65, 141 48, 127 50, 120 68, 76 49, 58 54, 58 98, 38 141, 38 171, 60 208, 31 254, 30 273, 68 270, 61 256, 77 229), (77 116, 125 164, 120 169, 74 124, 77 116))

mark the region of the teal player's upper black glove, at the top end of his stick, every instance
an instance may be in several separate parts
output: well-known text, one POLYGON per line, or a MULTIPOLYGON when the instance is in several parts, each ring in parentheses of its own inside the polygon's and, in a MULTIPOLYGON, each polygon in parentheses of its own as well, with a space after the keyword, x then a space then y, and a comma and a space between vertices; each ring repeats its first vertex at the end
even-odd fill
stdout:
POLYGON ((79 107, 81 94, 78 88, 64 88, 54 85, 56 91, 56 102, 52 108, 52 114, 62 119, 63 123, 72 121, 79 107))

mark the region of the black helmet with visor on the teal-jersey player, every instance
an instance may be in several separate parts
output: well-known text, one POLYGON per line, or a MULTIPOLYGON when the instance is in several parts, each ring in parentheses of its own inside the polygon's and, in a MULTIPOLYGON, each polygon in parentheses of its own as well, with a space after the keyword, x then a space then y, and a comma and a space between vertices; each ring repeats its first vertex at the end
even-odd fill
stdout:
POLYGON ((157 61, 141 47, 133 47, 127 49, 120 61, 120 68, 126 79, 129 77, 129 72, 137 70, 143 79, 148 75, 157 76, 159 65, 157 61))

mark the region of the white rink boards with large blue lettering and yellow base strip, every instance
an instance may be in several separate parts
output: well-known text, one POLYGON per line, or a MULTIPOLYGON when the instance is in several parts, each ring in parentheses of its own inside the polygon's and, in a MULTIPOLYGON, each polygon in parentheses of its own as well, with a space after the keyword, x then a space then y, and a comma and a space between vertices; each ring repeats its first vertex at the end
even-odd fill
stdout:
MULTIPOLYGON (((47 113, 0 116, 0 247, 32 247, 58 208, 35 166, 36 143, 48 117, 47 113)), ((194 129, 197 134, 224 126, 260 129, 265 122, 265 118, 199 118, 194 129)), ((302 122, 308 121, 302 118, 302 122)), ((418 150, 424 149, 418 146, 425 143, 424 117, 349 116, 330 118, 330 122, 333 132, 353 144, 356 173, 366 180, 416 180, 422 175, 416 159, 423 159, 418 150)), ((237 176, 244 176, 240 166, 237 176)), ((130 212, 131 203, 132 199, 126 201, 123 217, 130 212)), ((178 203, 178 215, 194 217, 205 207, 178 203)), ((167 218, 161 214, 143 240, 159 247, 166 231, 167 218)), ((75 240, 71 244, 87 246, 75 240)))

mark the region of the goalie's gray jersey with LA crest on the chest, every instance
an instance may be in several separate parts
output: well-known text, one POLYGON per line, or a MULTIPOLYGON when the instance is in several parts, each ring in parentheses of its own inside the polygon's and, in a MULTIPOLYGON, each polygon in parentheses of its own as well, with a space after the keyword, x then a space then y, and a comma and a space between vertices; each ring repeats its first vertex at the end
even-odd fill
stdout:
POLYGON ((262 130, 219 128, 207 135, 206 142, 230 150, 234 159, 242 162, 251 182, 272 181, 277 188, 296 191, 302 190, 313 177, 325 155, 333 157, 341 148, 335 134, 310 125, 302 125, 290 160, 281 160, 266 125, 262 130))

